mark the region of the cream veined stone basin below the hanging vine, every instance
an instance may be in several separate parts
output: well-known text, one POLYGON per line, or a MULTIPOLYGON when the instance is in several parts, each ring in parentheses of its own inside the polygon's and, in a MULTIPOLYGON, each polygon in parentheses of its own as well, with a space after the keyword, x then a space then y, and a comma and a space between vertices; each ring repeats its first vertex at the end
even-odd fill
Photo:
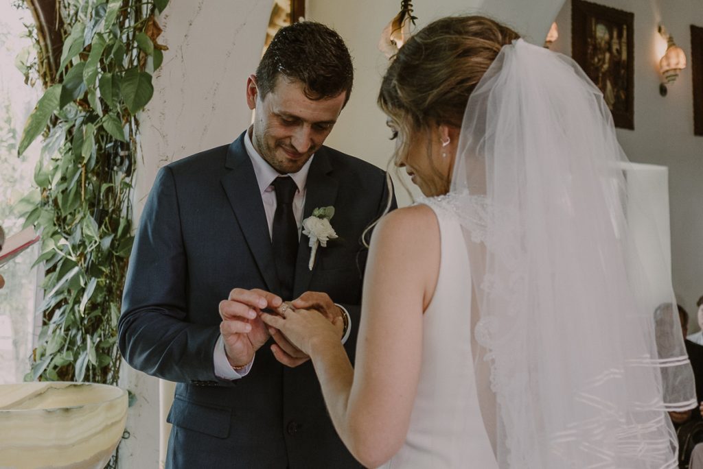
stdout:
POLYGON ((103 469, 125 421, 127 391, 116 386, 0 385, 0 468, 103 469))

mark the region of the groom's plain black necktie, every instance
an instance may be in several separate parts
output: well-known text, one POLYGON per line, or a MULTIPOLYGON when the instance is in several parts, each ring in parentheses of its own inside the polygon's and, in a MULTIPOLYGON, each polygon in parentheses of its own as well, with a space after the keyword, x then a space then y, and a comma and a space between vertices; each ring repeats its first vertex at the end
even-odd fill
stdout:
POLYGON ((276 260, 276 275, 280 282, 280 296, 292 300, 295 259, 298 254, 298 226, 293 214, 293 197, 297 186, 289 176, 280 176, 273 181, 276 190, 276 213, 273 215, 273 256, 276 260))

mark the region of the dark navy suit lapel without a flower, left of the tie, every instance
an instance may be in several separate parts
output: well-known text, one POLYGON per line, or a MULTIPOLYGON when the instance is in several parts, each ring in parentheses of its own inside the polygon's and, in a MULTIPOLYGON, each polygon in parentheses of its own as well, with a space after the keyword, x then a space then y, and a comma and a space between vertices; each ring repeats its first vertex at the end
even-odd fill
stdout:
POLYGON ((244 134, 229 146, 225 166, 231 171, 220 182, 267 288, 269 291, 278 291, 280 286, 273 260, 269 223, 266 221, 254 167, 244 148, 243 136, 244 134))

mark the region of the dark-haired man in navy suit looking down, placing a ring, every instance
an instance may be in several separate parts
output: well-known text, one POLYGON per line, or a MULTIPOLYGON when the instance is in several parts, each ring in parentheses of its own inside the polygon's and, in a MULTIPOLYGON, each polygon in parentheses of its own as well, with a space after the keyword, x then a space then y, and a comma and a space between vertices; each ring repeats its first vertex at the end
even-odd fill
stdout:
POLYGON ((280 29, 247 81, 254 124, 155 180, 119 340, 131 366, 178 383, 167 468, 360 467, 337 437, 307 357, 258 316, 295 300, 335 322, 354 356, 361 238, 392 195, 383 171, 323 146, 352 77, 332 29, 280 29), (300 227, 328 206, 338 237, 318 247, 309 269, 300 227))

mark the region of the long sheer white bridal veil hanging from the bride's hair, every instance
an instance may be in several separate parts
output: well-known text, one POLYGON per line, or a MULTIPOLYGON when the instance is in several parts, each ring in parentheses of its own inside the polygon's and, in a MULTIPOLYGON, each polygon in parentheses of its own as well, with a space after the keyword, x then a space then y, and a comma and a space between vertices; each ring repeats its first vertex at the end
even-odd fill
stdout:
POLYGON ((579 65, 522 39, 467 104, 449 199, 501 468, 676 467, 665 411, 695 407, 695 388, 676 308, 657 308, 673 303, 670 282, 632 268, 626 161, 579 65))

